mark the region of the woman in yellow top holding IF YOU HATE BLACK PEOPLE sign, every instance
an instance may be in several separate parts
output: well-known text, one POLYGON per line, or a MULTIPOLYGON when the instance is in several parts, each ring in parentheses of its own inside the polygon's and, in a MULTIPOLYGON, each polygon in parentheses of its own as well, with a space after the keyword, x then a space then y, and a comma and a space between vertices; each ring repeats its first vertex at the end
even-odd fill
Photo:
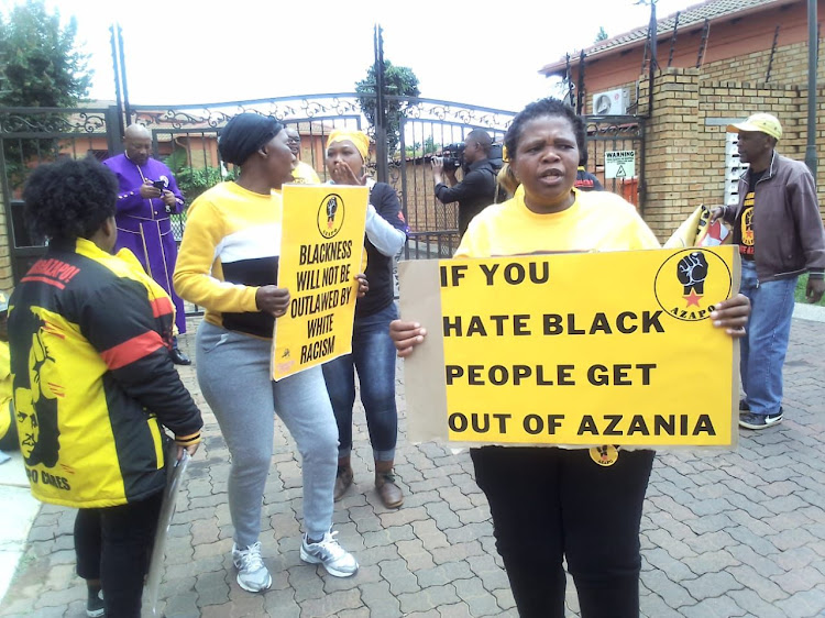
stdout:
MULTIPOLYGON (((505 136, 519 187, 471 221, 455 256, 659 247, 630 203, 574 188, 583 143, 584 123, 563 102, 527 106, 505 136)), ((741 336, 748 313, 738 295, 716 305, 712 319, 741 336)), ((399 356, 426 332, 408 320, 391 324, 399 356)), ((483 446, 471 456, 522 618, 564 616, 563 559, 583 618, 638 617, 639 526, 653 451, 483 446)))

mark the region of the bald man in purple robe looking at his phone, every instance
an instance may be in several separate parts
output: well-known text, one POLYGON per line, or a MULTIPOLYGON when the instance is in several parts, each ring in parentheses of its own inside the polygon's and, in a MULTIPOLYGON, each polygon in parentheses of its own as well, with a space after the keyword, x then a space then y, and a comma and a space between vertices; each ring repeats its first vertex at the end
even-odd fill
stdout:
MULTIPOLYGON (((128 249, 138 256, 146 273, 169 293, 175 302, 175 325, 178 333, 186 332, 184 301, 172 287, 177 245, 172 233, 169 214, 180 212, 184 196, 177 188, 172 170, 152 158, 152 135, 142 124, 131 124, 123 135, 123 154, 107 158, 103 165, 118 177, 118 244, 116 250, 128 249)), ((169 351, 178 365, 191 361, 178 350, 173 338, 169 351)))

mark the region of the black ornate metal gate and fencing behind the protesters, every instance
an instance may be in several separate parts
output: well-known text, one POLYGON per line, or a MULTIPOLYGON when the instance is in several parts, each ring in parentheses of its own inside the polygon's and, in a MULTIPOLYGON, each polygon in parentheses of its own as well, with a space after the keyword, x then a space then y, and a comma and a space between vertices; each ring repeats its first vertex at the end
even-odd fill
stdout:
MULTIPOLYGON (((187 202, 230 173, 217 148, 218 130, 233 115, 255 112, 294 126, 301 135, 300 158, 326 180, 324 148, 333 129, 363 129, 366 121, 355 93, 283 97, 209 106, 157 109, 131 107, 132 122, 146 125, 153 135, 154 156, 176 175, 187 202)), ((392 101, 392 97, 386 98, 392 101)), ((397 100, 397 98, 395 98, 397 100)), ((385 161, 371 154, 369 166, 395 187, 410 235, 404 258, 449 257, 459 243, 457 205, 442 205, 435 196, 430 162, 448 144, 463 142, 473 129, 486 130, 501 143, 514 112, 433 99, 405 99, 395 153, 385 161)), ((636 205, 644 198, 644 125, 637 117, 590 117, 587 169, 604 179, 606 151, 635 151, 636 177, 604 181, 636 205)), ((375 129, 366 131, 374 137, 375 129)), ((385 148, 377 148, 378 152, 385 148)), ((45 250, 42 239, 28 233, 22 218, 22 187, 40 163, 68 156, 103 159, 122 151, 118 111, 111 108, 0 108, 0 189, 8 228, 7 244, 14 282, 45 250)), ((175 222, 179 240, 185 214, 175 222)), ((2 239, 0 239, 0 243, 2 239)))

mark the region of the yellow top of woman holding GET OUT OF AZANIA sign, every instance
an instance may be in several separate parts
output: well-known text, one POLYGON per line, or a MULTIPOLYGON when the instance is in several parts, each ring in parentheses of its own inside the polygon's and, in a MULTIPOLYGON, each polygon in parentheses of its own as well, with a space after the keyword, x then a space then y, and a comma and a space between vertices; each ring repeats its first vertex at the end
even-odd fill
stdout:
POLYGON ((573 191, 575 201, 566 210, 537 214, 525 205, 524 187, 518 187, 513 199, 475 216, 455 257, 659 249, 632 205, 607 191, 573 191))

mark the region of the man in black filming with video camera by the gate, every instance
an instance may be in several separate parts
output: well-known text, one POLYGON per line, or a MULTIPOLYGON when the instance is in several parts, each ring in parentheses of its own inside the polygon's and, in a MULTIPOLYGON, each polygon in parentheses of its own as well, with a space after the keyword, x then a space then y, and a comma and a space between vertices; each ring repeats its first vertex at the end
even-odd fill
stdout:
POLYGON ((482 129, 474 129, 464 143, 446 146, 446 156, 432 157, 436 197, 441 203, 459 202, 459 233, 464 235, 473 217, 495 201, 498 169, 490 159, 493 140, 482 129), (461 183, 455 178, 459 166, 464 168, 461 183), (450 186, 444 183, 447 178, 450 186))

